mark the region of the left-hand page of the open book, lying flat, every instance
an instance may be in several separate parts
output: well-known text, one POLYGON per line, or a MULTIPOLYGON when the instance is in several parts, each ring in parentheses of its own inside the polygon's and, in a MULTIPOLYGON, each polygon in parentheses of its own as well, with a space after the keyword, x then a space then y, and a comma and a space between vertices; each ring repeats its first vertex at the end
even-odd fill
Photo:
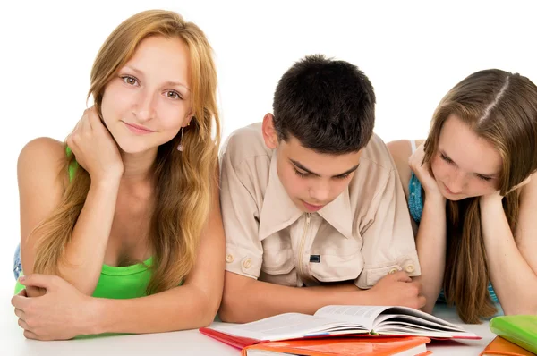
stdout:
POLYGON ((341 329, 348 329, 346 323, 300 313, 286 313, 246 324, 214 327, 214 330, 221 333, 260 341, 328 334, 341 329))

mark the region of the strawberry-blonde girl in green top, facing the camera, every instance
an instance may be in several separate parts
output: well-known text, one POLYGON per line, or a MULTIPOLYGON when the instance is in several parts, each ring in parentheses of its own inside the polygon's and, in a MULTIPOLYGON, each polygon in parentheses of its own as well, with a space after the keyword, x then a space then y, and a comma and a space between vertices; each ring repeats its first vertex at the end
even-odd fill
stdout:
POLYGON ((213 320, 225 263, 216 93, 209 42, 179 14, 137 13, 110 34, 93 106, 64 143, 32 140, 19 157, 12 304, 26 337, 213 320))

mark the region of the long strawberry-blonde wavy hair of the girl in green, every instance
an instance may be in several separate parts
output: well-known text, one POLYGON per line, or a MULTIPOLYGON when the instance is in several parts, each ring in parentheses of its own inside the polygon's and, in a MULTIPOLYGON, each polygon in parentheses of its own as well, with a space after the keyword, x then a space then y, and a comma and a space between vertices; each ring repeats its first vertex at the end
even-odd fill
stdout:
MULTIPOLYGON (((200 233, 207 224, 215 187, 220 123, 217 111, 217 73, 212 49, 204 33, 177 13, 150 10, 121 23, 100 48, 90 76, 88 97, 100 114, 107 83, 149 36, 181 38, 190 51, 193 118, 183 132, 183 152, 175 149, 180 135, 158 148, 154 164, 155 208, 149 227, 154 250, 147 292, 161 292, 180 284, 195 262, 200 233)), ((76 157, 65 158, 65 172, 76 157)), ((34 271, 57 274, 72 230, 90 190, 90 175, 81 166, 66 187, 62 203, 33 233, 39 231, 34 271)))

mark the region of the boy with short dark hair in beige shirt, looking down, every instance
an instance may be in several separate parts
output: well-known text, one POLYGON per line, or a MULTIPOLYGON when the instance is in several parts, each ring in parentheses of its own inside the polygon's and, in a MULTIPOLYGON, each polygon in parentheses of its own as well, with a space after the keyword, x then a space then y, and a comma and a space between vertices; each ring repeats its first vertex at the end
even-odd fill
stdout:
POLYGON ((329 304, 424 305, 410 278, 420 266, 405 193, 373 134, 374 106, 353 64, 307 56, 278 82, 274 114, 229 137, 223 321, 329 304))

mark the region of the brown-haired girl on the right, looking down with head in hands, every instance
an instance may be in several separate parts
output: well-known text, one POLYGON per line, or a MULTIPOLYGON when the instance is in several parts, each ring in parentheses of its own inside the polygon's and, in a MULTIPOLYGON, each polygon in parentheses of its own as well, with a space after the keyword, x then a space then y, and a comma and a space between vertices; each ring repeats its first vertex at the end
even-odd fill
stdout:
POLYGON ((417 232, 425 310, 447 301, 466 323, 499 306, 536 314, 535 84, 475 72, 441 100, 427 140, 388 148, 417 232))

